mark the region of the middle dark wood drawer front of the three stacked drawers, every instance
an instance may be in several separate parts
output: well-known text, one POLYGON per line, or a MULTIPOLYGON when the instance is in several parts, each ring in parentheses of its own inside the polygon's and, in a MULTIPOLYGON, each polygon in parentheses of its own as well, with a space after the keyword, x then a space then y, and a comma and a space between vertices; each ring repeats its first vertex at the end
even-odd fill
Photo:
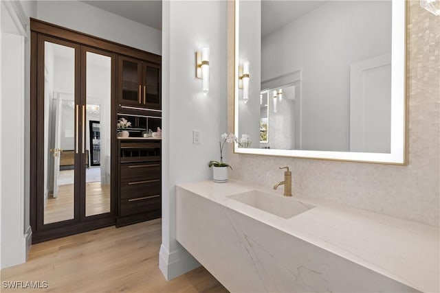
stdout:
POLYGON ((121 184, 121 199, 142 198, 162 193, 159 179, 132 181, 121 184))

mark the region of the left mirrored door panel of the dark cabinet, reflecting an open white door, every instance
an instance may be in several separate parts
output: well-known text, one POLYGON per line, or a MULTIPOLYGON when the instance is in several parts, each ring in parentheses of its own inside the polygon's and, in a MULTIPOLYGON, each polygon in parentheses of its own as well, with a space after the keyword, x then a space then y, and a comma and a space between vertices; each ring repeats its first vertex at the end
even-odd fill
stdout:
POLYGON ((75 49, 45 42, 44 224, 74 218, 75 49))

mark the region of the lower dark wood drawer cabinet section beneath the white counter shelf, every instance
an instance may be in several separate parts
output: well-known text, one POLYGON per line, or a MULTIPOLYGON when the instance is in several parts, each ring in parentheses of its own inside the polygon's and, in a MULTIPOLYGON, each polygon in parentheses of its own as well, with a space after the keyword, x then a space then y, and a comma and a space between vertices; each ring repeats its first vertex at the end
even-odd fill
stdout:
POLYGON ((116 226, 161 216, 160 139, 118 139, 119 193, 116 226))

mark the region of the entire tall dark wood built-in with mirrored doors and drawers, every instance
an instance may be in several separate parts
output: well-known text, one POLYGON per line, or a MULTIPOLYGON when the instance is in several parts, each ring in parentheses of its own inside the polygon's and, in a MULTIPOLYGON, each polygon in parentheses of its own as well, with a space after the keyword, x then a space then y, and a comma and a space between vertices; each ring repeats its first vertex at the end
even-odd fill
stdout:
POLYGON ((160 218, 162 141, 144 134, 162 127, 162 57, 37 19, 30 30, 32 242, 160 218), (65 57, 59 68, 45 63, 59 59, 54 52, 65 57), (106 85, 99 95, 92 78, 106 85), (122 117, 129 139, 118 137, 122 117))

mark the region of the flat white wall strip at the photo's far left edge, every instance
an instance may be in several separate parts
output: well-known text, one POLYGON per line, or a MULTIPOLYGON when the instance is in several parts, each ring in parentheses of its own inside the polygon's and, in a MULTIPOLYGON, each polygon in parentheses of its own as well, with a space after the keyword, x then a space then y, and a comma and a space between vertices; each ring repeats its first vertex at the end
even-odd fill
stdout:
MULTIPOLYGON (((15 99, 20 99, 22 90, 17 93, 17 89, 21 89, 23 81, 20 77, 23 74, 23 68, 16 66, 14 62, 21 60, 21 37, 1 32, 2 48, 1 48, 1 267, 16 264, 16 259, 22 259, 21 251, 14 249, 14 245, 21 243, 20 237, 23 233, 22 224, 24 219, 19 222, 11 222, 10 219, 16 218, 15 213, 22 213, 21 201, 14 198, 23 197, 23 185, 21 184, 22 162, 23 156, 21 152, 21 132, 17 131, 21 128, 21 107, 17 107, 15 99), (8 44, 8 45, 6 45, 8 44), (6 98, 9 97, 9 98, 6 98), (18 143, 18 144, 16 144, 18 143), (17 148, 18 146, 18 148, 17 148), (7 207, 7 208, 6 208, 7 207), (8 223, 8 224, 6 224, 8 223), (12 239, 8 239, 12 237, 12 239), (11 241, 12 240, 12 241, 11 241)), ((21 102, 21 101, 19 101, 21 102)), ((21 106, 21 105, 20 105, 21 106)))

